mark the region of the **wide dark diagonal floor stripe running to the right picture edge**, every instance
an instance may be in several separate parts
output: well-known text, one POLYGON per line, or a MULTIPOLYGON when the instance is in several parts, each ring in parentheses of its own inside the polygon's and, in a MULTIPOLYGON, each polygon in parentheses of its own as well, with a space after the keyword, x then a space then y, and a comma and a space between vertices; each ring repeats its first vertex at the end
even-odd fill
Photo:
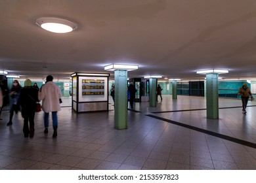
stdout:
POLYGON ((207 135, 212 135, 214 137, 219 137, 221 139, 225 139, 227 141, 231 141, 231 142, 235 142, 237 144, 242 144, 244 146, 249 146, 251 148, 256 148, 256 144, 253 143, 253 142, 248 142, 248 141, 244 141, 244 140, 241 140, 241 139, 236 139, 234 137, 230 137, 230 136, 227 136, 227 135, 223 135, 221 133, 215 133, 213 131, 209 131, 209 130, 206 130, 206 129, 202 129, 202 128, 199 128, 199 127, 194 127, 192 125, 187 125, 187 124, 182 124, 180 122, 175 122, 175 121, 172 121, 172 120, 167 120, 165 118, 161 118, 159 116, 154 116, 152 114, 147 114, 146 116, 149 116, 151 118, 156 118, 158 120, 162 120, 162 121, 165 121, 165 122, 168 122, 168 123, 171 123, 171 124, 175 124, 175 125, 179 125, 179 126, 182 126, 182 127, 186 127, 188 129, 192 129, 192 130, 195 130, 195 131, 199 131, 199 132, 202 132, 202 133, 205 133, 207 135))

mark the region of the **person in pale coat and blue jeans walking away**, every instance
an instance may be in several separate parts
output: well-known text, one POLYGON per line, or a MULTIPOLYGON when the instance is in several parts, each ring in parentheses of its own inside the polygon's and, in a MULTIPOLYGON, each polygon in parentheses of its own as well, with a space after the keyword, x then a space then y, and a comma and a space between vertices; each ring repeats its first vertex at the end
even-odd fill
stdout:
POLYGON ((49 112, 52 112, 53 120, 53 137, 57 137, 58 116, 57 112, 60 110, 60 88, 53 82, 53 76, 49 75, 46 78, 46 83, 38 92, 38 99, 42 101, 42 109, 44 114, 45 131, 48 133, 49 127, 49 112))

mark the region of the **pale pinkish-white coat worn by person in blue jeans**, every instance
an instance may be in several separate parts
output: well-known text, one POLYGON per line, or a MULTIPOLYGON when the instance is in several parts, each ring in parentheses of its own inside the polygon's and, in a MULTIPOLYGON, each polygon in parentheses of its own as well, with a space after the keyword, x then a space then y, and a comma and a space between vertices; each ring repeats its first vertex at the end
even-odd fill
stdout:
POLYGON ((46 82, 38 92, 38 99, 42 102, 44 112, 60 110, 60 88, 52 81, 46 82))

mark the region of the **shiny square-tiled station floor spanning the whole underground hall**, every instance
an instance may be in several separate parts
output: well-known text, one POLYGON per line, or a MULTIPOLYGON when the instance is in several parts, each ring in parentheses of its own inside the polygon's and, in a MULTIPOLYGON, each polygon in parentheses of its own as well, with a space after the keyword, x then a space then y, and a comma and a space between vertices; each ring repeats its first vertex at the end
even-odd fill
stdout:
POLYGON ((240 100, 219 99, 219 120, 208 120, 205 98, 163 95, 157 107, 136 103, 125 130, 114 129, 112 104, 109 112, 81 114, 69 105, 64 99, 56 139, 51 128, 43 133, 43 112, 29 139, 21 115, 7 127, 3 110, 0 169, 256 169, 255 101, 244 115, 240 100))

